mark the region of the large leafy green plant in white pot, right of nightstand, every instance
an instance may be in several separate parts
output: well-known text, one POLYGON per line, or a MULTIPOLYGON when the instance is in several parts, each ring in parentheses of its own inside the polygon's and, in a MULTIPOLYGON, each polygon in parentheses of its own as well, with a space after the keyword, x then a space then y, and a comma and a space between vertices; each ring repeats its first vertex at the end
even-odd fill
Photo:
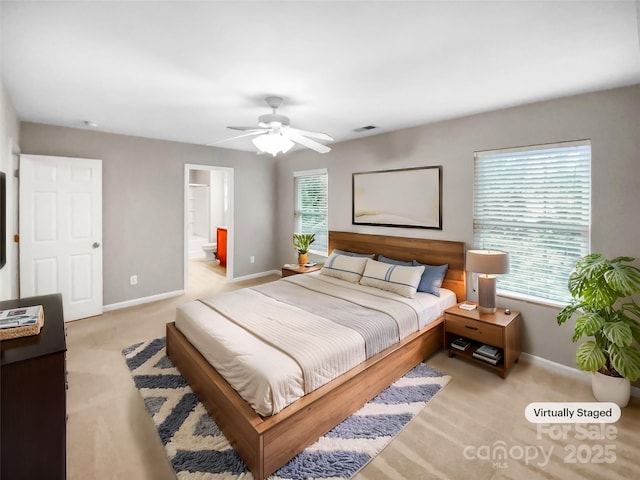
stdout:
POLYGON ((640 292, 640 269, 631 257, 584 256, 569 276, 571 303, 557 316, 562 325, 577 314, 573 342, 592 337, 576 352, 581 370, 592 372, 593 394, 599 401, 624 407, 631 383, 640 377, 640 307, 631 297, 640 292))

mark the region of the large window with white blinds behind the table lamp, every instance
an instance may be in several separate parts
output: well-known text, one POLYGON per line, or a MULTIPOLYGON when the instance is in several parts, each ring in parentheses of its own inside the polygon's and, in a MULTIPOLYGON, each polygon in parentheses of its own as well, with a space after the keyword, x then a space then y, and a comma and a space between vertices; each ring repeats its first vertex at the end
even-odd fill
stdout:
POLYGON ((475 247, 509 253, 498 290, 569 301, 569 274, 589 253, 590 142, 476 152, 473 210, 475 247))

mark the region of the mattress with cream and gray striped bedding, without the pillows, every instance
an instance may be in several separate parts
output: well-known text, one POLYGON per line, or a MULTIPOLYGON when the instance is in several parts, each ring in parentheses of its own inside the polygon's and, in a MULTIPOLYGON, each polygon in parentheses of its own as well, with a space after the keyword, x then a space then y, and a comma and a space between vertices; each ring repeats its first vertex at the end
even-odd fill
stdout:
POLYGON ((440 292, 407 298, 316 272, 188 302, 176 327, 269 416, 442 316, 456 296, 440 292))

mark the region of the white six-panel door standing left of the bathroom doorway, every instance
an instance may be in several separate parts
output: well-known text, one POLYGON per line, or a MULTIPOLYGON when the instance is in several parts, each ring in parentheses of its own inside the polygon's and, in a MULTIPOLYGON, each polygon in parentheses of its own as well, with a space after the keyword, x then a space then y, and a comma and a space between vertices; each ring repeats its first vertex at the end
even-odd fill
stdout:
POLYGON ((102 161, 21 155, 19 216, 20 297, 61 293, 65 321, 101 314, 102 161))

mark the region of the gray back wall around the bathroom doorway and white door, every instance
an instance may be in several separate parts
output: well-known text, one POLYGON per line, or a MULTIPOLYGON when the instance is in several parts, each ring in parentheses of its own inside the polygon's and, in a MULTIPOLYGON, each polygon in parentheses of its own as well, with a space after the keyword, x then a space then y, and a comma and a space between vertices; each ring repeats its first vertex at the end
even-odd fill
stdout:
POLYGON ((272 157, 27 122, 20 146, 102 160, 105 305, 183 289, 185 164, 234 169, 234 278, 273 268, 272 157))

